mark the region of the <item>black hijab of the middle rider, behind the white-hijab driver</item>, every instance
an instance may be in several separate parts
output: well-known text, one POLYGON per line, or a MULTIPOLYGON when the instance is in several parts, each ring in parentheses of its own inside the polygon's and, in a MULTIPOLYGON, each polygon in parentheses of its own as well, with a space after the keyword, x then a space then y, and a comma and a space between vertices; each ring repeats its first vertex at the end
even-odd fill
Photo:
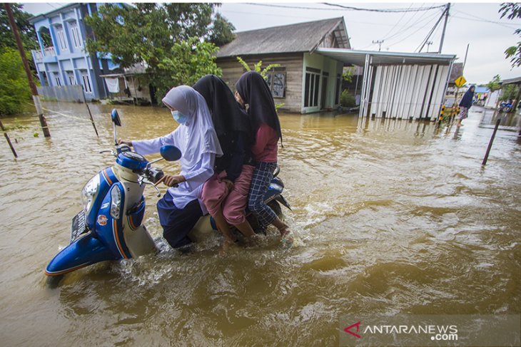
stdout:
POLYGON ((221 78, 215 75, 203 76, 193 85, 193 89, 206 100, 218 136, 231 135, 234 131, 249 133, 248 118, 221 78))

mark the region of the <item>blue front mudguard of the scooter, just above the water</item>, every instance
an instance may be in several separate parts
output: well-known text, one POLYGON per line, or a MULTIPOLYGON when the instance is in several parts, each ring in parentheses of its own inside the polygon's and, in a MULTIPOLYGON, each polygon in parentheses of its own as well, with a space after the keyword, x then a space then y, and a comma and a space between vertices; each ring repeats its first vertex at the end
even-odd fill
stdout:
POLYGON ((47 265, 47 276, 59 276, 100 261, 117 260, 110 249, 88 232, 56 254, 47 265))

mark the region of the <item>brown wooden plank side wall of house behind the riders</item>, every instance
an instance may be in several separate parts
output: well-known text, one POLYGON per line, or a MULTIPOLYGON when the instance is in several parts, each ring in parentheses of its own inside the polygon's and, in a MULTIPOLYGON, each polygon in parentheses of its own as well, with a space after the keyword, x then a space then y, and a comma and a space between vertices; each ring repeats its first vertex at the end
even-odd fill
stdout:
MULTIPOLYGON (((302 73, 303 73, 303 53, 295 54, 277 54, 270 56, 242 56, 244 61, 251 68, 258 61, 262 60, 262 68, 270 64, 278 63, 280 67, 285 68, 285 97, 274 98, 275 104, 284 103, 280 108, 285 112, 301 111, 302 106, 302 73)), ((235 90, 235 83, 246 70, 237 58, 218 58, 217 66, 223 70, 223 80, 228 83, 231 90, 235 90)))

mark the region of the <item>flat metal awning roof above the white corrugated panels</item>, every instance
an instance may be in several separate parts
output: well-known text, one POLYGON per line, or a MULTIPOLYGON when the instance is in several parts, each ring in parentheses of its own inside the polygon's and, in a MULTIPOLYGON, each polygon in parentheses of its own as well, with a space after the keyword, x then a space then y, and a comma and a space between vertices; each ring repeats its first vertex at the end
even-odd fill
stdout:
POLYGON ((357 66, 365 65, 365 56, 373 56, 373 65, 398 65, 398 64, 441 64, 449 65, 454 60, 454 54, 437 53, 400 53, 380 51, 357 51, 345 48, 317 48, 315 53, 322 56, 343 61, 345 64, 357 66))

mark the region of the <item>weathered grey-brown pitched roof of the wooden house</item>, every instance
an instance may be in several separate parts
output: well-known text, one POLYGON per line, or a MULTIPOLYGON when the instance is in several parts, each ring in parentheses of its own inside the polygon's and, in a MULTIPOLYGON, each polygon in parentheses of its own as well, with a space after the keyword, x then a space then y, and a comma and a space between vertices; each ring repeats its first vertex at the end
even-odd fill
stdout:
POLYGON ((338 17, 238 32, 231 43, 221 47, 217 57, 309 52, 317 48, 323 38, 333 31, 340 48, 350 48, 344 19, 338 17))

